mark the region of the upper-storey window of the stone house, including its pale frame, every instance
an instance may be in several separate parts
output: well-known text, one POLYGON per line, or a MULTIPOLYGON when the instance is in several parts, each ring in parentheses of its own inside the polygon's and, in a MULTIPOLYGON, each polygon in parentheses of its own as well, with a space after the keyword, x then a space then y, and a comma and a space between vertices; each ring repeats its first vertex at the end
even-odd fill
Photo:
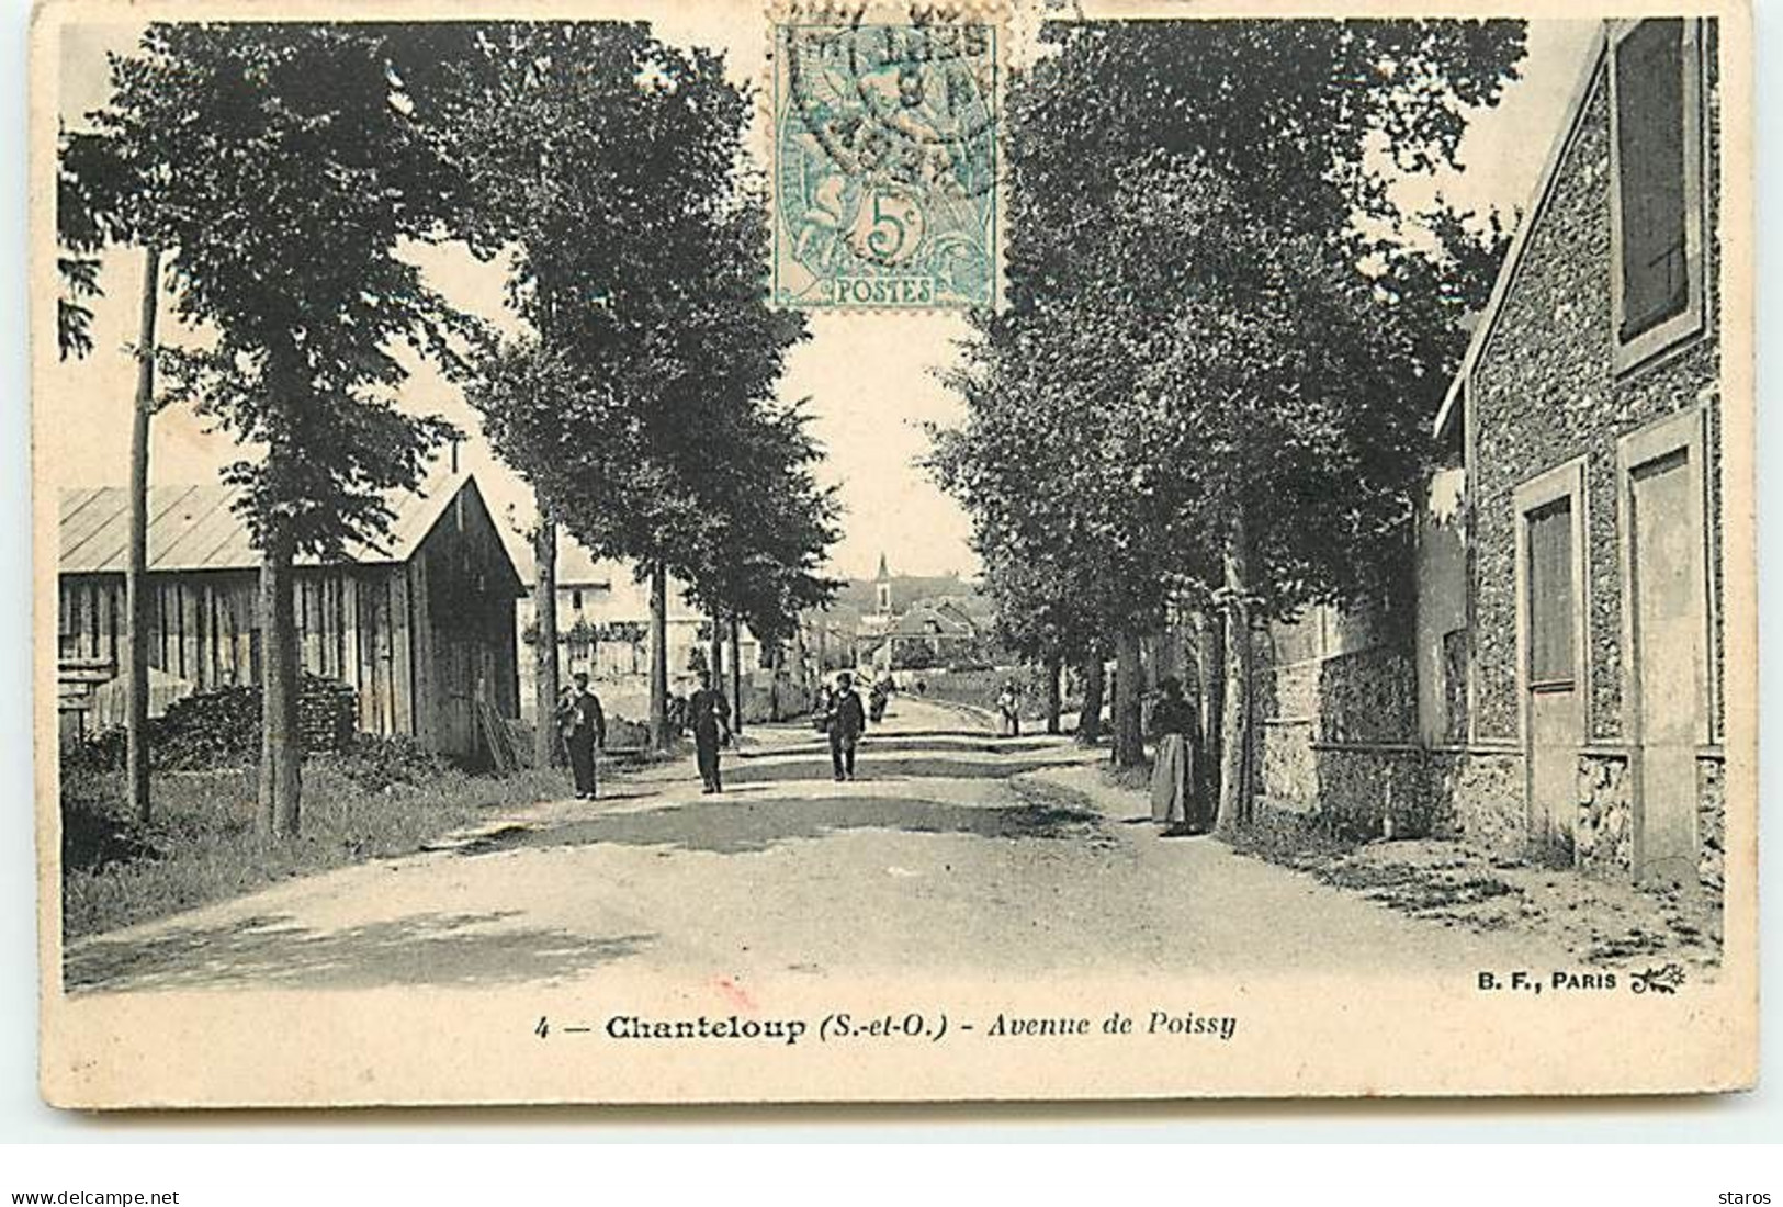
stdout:
POLYGON ((1631 367, 1703 326, 1697 23, 1621 29, 1610 91, 1617 367, 1631 367))

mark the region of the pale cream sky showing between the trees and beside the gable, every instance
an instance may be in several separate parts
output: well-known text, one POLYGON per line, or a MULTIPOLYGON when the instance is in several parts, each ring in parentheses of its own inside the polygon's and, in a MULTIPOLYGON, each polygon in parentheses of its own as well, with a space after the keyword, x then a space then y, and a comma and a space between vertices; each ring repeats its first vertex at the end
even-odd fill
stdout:
MULTIPOLYGON (((752 75, 763 46, 760 27, 724 16, 726 7, 713 9, 713 16, 683 12, 669 25, 660 23, 658 34, 672 43, 724 48, 733 75, 752 75)), ((1457 205, 1508 210, 1528 203, 1592 30, 1589 21, 1532 23, 1523 78, 1469 128, 1462 143, 1467 169, 1441 184, 1457 205)), ((100 103, 105 50, 132 46, 137 32, 134 25, 103 25, 68 39, 61 62, 66 118, 78 121, 100 103)), ((501 307, 499 260, 478 264, 469 255, 435 248, 419 250, 415 259, 428 280, 460 307, 496 323, 512 321, 501 307)), ((119 349, 134 337, 139 271, 136 257, 107 260, 107 296, 94 303, 96 351, 55 367, 55 406, 70 430, 82 431, 82 440, 62 446, 55 464, 46 467, 55 485, 121 481, 125 476, 136 367, 119 349)), ((41 303, 53 305, 53 298, 41 303)), ((169 337, 177 330, 164 324, 169 337)), ((966 515, 916 465, 929 447, 924 424, 950 426, 961 415, 959 399, 938 380, 936 369, 956 364, 954 344, 965 333, 963 319, 954 314, 818 314, 811 319, 811 339, 788 357, 781 392, 786 399, 811 399, 811 433, 829 453, 818 476, 840 485, 847 508, 845 535, 831 567, 834 574, 870 578, 881 553, 897 572, 977 571, 966 515)), ((48 355, 53 358, 53 348, 48 355)), ((497 513, 512 505, 519 521, 530 521, 530 492, 494 458, 476 414, 458 390, 417 365, 408 396, 417 412, 437 412, 471 433, 462 451, 464 465, 476 472, 497 513)), ((153 439, 152 474, 162 483, 210 481, 219 464, 239 455, 228 437, 207 435, 201 421, 185 410, 159 415, 153 439)), ((519 540, 514 537, 515 544, 519 540)))

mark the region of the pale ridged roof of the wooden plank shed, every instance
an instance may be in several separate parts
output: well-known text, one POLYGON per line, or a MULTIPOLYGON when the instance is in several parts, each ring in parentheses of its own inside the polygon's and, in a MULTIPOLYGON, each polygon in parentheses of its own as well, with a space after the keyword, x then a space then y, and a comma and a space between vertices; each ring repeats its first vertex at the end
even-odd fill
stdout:
MULTIPOLYGON (((348 560, 374 565, 407 562, 433 531, 446 506, 474 485, 471 474, 437 471, 421 490, 392 492, 387 499, 396 517, 382 549, 355 544, 348 560)), ((150 571, 239 571, 260 565, 248 524, 235 512, 239 487, 221 483, 150 487, 150 571)), ((61 571, 64 574, 121 574, 130 540, 130 494, 125 487, 78 487, 62 490, 61 571)), ((316 558, 300 558, 314 565, 316 558)))

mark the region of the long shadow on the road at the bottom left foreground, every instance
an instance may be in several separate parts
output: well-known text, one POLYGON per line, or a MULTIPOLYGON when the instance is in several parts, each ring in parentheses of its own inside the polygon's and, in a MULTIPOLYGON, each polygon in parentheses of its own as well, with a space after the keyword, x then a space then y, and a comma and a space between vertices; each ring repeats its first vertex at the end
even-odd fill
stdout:
POLYGON ((492 925, 515 913, 423 913, 344 931, 308 931, 289 916, 257 916, 146 940, 96 940, 68 952, 62 979, 71 993, 505 984, 571 977, 640 952, 656 938, 492 925))

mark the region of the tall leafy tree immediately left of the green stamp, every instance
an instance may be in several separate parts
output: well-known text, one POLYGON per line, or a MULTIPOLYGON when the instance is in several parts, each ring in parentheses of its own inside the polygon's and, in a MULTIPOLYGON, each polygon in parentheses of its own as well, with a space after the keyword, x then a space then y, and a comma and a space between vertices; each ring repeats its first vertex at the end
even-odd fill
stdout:
MULTIPOLYGON (((710 530, 736 506, 719 487, 735 481, 720 472, 735 458, 715 435, 754 431, 804 337, 799 316, 765 305, 749 98, 719 55, 663 46, 642 25, 442 37, 414 57, 442 64, 446 159, 480 198, 476 242, 506 250, 510 303, 531 326, 489 358, 471 398, 533 485, 542 528, 562 522, 649 578, 651 729, 663 743, 667 578, 713 578, 710 530)), ((544 576, 544 544, 540 554, 544 576)), ((544 692, 555 667, 540 669, 544 692)))

